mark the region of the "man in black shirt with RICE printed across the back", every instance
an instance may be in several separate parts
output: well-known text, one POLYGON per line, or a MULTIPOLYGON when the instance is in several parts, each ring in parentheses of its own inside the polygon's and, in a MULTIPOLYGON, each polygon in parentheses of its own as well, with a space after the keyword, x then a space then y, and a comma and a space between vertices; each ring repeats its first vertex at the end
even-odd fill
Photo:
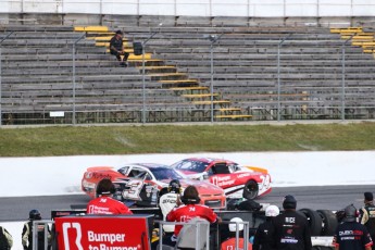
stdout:
POLYGON ((309 222, 303 214, 296 211, 297 201, 288 195, 283 202, 284 213, 274 220, 275 247, 276 249, 288 250, 311 250, 311 233, 309 222))

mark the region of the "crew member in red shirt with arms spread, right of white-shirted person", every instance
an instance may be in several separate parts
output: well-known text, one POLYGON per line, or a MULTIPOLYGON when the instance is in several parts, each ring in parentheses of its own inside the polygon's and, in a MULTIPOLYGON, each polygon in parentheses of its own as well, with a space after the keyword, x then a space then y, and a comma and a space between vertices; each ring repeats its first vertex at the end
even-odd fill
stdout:
MULTIPOLYGON (((193 217, 208 220, 210 223, 221 222, 221 218, 207 205, 199 204, 200 198, 195 186, 188 186, 182 197, 183 205, 173 209, 167 215, 167 222, 189 222, 193 217)), ((163 245, 175 246, 183 225, 176 225, 172 237, 163 238, 163 245)))

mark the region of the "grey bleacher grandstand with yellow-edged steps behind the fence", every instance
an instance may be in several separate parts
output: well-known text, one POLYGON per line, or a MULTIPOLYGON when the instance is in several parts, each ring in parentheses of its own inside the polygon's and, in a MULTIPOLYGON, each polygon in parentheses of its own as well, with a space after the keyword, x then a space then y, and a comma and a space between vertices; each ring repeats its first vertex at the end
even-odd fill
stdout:
POLYGON ((100 25, 22 23, 0 26, 3 125, 375 115, 371 21, 105 15, 100 25), (108 52, 116 29, 132 53, 127 68, 108 52), (143 60, 133 42, 145 40, 143 60))

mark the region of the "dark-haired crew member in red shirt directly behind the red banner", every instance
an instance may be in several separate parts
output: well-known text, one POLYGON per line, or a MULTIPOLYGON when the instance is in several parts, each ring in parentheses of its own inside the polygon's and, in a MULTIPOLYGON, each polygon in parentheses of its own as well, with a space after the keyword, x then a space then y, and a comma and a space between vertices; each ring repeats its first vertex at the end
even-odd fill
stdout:
POLYGON ((102 179, 98 184, 98 198, 88 202, 87 214, 133 214, 124 203, 112 198, 115 189, 111 179, 102 179))

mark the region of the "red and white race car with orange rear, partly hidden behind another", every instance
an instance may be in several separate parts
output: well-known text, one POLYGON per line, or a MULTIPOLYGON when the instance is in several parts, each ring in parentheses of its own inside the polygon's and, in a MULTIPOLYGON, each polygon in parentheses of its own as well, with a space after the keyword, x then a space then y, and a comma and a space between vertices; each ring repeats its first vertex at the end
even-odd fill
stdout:
POLYGON ((271 192, 271 176, 265 168, 240 166, 213 158, 189 158, 171 165, 191 179, 208 179, 224 189, 227 198, 255 199, 271 192))

